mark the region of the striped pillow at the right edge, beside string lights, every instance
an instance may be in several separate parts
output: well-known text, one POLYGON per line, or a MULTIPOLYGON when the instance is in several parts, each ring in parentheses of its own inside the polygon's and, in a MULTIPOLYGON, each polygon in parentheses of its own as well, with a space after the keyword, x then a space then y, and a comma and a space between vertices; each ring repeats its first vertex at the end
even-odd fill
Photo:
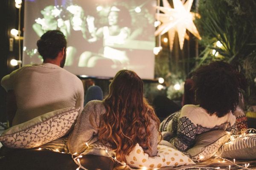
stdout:
POLYGON ((256 159, 256 134, 250 134, 224 144, 221 154, 230 159, 256 159))

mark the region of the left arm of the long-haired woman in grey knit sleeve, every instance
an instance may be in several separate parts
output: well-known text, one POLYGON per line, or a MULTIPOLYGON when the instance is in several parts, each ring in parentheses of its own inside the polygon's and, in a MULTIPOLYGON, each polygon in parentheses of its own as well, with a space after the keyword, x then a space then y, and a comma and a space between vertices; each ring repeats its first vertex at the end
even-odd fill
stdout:
POLYGON ((99 127, 99 113, 96 113, 95 102, 88 102, 84 110, 77 118, 76 125, 67 140, 70 153, 82 153, 90 145, 98 140, 96 137, 99 127))

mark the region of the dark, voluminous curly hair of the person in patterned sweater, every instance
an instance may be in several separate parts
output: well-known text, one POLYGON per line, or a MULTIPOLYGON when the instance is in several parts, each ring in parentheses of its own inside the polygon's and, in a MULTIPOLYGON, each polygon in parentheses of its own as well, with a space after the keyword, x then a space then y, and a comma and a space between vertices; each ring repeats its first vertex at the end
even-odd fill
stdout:
POLYGON ((245 78, 227 62, 211 62, 198 68, 192 79, 195 82, 195 99, 209 114, 218 117, 236 110, 239 93, 244 89, 245 78))

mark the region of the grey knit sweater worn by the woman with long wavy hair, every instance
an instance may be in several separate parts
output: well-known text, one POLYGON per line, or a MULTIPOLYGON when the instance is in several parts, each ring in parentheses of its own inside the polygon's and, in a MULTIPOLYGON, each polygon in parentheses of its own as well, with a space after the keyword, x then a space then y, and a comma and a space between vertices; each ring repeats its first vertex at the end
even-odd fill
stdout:
MULTIPOLYGON (((82 153, 87 149, 86 143, 90 145, 98 141, 99 130, 97 127, 99 127, 101 116, 105 112, 106 109, 102 101, 93 100, 87 103, 67 140, 67 147, 71 153, 82 153)), ((150 122, 150 132, 152 133, 150 145, 152 151, 144 150, 144 152, 148 153, 148 156, 156 156, 158 143, 157 123, 153 119, 150 122)))

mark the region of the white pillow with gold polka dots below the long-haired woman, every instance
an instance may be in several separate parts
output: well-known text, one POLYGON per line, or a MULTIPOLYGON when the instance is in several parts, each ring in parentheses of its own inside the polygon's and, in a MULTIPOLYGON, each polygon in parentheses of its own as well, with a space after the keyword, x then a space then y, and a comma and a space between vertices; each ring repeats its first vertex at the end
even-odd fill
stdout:
POLYGON ((195 162, 180 151, 160 144, 157 146, 157 156, 149 157, 147 153, 144 153, 142 147, 136 144, 131 153, 125 156, 125 158, 130 167, 136 168, 151 169, 195 164, 195 162))

